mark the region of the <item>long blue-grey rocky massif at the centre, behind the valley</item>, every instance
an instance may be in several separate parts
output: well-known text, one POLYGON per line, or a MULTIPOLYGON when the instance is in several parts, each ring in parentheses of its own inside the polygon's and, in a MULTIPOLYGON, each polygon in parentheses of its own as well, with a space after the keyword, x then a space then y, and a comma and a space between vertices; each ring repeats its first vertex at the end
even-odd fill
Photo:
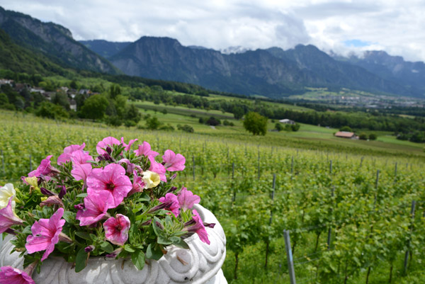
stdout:
POLYGON ((111 57, 111 62, 132 76, 183 81, 246 95, 279 98, 300 93, 304 86, 409 94, 403 86, 362 67, 336 61, 313 45, 226 55, 184 47, 172 38, 142 37, 111 57))

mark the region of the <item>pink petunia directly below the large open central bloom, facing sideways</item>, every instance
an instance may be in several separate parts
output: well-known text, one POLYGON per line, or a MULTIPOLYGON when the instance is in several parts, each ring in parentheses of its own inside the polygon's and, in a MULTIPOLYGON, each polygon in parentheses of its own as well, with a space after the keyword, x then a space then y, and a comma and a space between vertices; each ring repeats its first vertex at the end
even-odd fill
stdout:
POLYGON ((77 212, 75 219, 80 221, 80 226, 94 224, 108 215, 108 208, 111 208, 113 198, 107 191, 93 191, 87 189, 87 196, 84 198, 84 209, 77 212))

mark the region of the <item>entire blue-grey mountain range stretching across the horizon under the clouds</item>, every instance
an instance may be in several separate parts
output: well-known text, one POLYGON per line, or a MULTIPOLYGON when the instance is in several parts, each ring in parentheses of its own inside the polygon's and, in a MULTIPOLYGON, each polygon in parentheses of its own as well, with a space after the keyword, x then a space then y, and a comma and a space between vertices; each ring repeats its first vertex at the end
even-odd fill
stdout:
MULTIPOLYGON (((78 42, 62 25, 44 23, 1 7, 0 29, 4 30, 0 33, 0 51, 13 54, 15 61, 40 55, 42 59, 36 66, 41 68, 47 62, 50 70, 62 67, 128 74, 270 98, 303 93, 307 86, 420 98, 425 93, 424 62, 406 62, 382 51, 351 57, 330 56, 313 45, 297 45, 290 50, 232 47, 217 51, 186 47, 173 38, 147 36, 135 42, 78 42), (14 49, 14 45, 19 48, 14 49)), ((5 63, 0 67, 28 66, 13 64, 13 60, 2 60, 5 63)))

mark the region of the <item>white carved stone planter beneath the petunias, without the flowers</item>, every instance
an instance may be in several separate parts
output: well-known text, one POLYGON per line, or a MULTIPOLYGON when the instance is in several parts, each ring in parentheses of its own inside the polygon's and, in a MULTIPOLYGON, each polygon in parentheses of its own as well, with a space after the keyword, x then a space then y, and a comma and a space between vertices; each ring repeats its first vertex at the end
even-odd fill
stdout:
MULTIPOLYGON (((162 259, 148 260, 149 264, 142 271, 138 271, 130 259, 94 257, 89 259, 83 271, 75 273, 72 263, 50 256, 43 261, 40 274, 33 273, 33 279, 38 284, 225 284, 227 281, 221 270, 226 257, 225 232, 212 212, 200 205, 195 205, 195 209, 204 222, 215 223, 213 229, 206 228, 210 245, 204 244, 197 234, 193 234, 186 239, 190 250, 168 246, 168 253, 162 259)), ((23 269, 23 258, 18 257, 16 252, 10 254, 13 249, 8 242, 10 239, 11 236, 7 236, 1 246, 0 266, 23 269)))

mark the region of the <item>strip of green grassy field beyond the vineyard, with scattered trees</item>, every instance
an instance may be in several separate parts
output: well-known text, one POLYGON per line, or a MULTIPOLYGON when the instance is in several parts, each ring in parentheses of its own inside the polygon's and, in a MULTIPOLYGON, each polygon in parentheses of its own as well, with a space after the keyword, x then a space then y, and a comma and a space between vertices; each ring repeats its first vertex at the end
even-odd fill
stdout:
MULTIPOLYGON (((397 140, 390 132, 374 132, 378 135, 376 141, 347 140, 334 137, 337 129, 329 127, 319 127, 316 125, 300 124, 300 130, 297 132, 274 132, 276 121, 268 120, 268 133, 266 137, 253 137, 244 130, 242 120, 235 120, 232 113, 222 113, 218 110, 199 110, 193 108, 184 108, 182 106, 166 106, 162 103, 154 104, 151 102, 135 102, 142 113, 155 115, 164 124, 174 127, 177 125, 190 125, 196 134, 210 135, 213 137, 231 137, 239 141, 249 141, 251 143, 268 145, 286 145, 289 147, 302 147, 307 149, 322 149, 327 151, 351 151, 359 154, 388 154, 399 156, 417 156, 425 158, 424 144, 418 144, 409 141, 397 140), (154 111, 156 109, 157 111, 154 111), (166 114, 162 110, 166 110, 166 114), (209 118, 215 116, 220 120, 227 119, 234 123, 234 126, 216 126, 210 127, 199 123, 199 118, 209 118)), ((144 125, 141 122, 140 125, 144 125)), ((369 133, 368 131, 366 131, 369 133)))

